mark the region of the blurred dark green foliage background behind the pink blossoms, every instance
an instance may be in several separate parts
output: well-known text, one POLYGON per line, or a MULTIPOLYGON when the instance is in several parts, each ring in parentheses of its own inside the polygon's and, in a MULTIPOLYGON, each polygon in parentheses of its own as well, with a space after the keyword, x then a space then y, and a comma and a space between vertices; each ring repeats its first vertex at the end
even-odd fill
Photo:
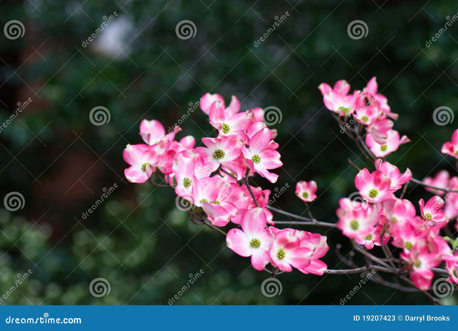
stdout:
MULTIPOLYGON (((282 274, 282 293, 267 298, 261 283, 268 274, 225 248, 220 234, 192 224, 175 208, 172 190, 126 181, 122 150, 142 142, 141 119, 168 128, 205 92, 222 94, 227 104, 236 95, 243 110, 281 109, 275 127, 284 166, 274 171, 280 177, 270 184, 256 176, 254 183, 270 190, 289 184, 273 205, 290 212, 305 210, 295 183, 314 179, 319 198, 311 210, 335 222, 338 199, 355 191, 356 170, 347 157, 371 166, 357 158, 360 152, 323 107, 316 88, 323 81, 346 79, 353 90, 377 76, 379 91, 400 114, 395 129, 412 140, 387 160, 402 171, 409 167, 417 179, 442 168, 456 174, 454 161, 440 153, 455 122, 436 125, 432 113, 441 106, 456 110, 458 23, 431 47, 425 43, 457 14, 457 1, 3 0, 0 11, 0 27, 18 20, 25 29, 22 38, 0 36, 0 122, 32 99, 0 133, 0 197, 16 191, 25 201, 15 212, 0 209, 0 296, 17 274, 32 271, 2 304, 168 304, 201 269, 175 304, 339 304, 359 274, 282 274), (193 38, 177 37, 183 20, 195 24, 193 38), (355 20, 366 23, 365 38, 349 37, 355 20), (97 106, 109 110, 108 123, 89 120, 97 106), (98 277, 110 284, 99 298, 89 293, 98 277)), ((200 109, 181 126, 179 138, 194 135, 200 142, 212 135, 200 109)), ((416 206, 431 197, 414 184, 407 192, 416 206)), ((334 253, 338 243, 344 255, 351 249, 338 230, 305 229, 328 236, 322 260, 329 268, 348 268, 334 253)), ((444 300, 456 303, 453 296, 444 300)), ((347 302, 429 303, 421 293, 373 282, 347 302)))

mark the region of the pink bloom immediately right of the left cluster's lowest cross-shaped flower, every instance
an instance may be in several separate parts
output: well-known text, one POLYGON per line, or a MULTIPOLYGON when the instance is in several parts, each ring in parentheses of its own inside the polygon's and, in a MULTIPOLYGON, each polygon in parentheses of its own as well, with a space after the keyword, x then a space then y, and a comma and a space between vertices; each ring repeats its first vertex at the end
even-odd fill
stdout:
POLYGON ((292 267, 304 269, 310 266, 312 250, 300 247, 300 239, 292 233, 292 229, 271 231, 275 233, 269 250, 273 266, 286 272, 293 271, 292 267))

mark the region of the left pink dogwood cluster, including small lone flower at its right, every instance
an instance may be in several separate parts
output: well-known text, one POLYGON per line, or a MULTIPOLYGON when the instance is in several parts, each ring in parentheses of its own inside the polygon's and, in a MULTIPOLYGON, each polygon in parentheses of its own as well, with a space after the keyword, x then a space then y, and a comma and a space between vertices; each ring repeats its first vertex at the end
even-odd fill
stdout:
MULTIPOLYGON (((263 110, 240 112, 236 97, 226 107, 219 94, 209 93, 201 98, 200 107, 218 131, 216 137, 204 137, 204 146, 195 147, 192 136, 175 140, 180 127, 166 134, 157 120, 144 119, 140 136, 146 144, 125 148, 124 160, 131 165, 125 177, 134 183, 149 180, 154 184, 153 174, 164 175, 163 181, 189 206, 191 219, 211 227, 234 224, 226 236, 227 246, 241 256, 251 256, 256 270, 270 263, 278 271, 295 267, 322 275, 327 266, 319 258, 328 250, 326 237, 273 227, 273 215, 267 209, 271 191, 249 184, 249 177, 255 174, 275 183, 278 175, 270 170, 283 165, 273 141, 277 130, 267 128, 263 110)), ((316 189, 314 181, 305 183, 301 199, 312 201, 316 189)))

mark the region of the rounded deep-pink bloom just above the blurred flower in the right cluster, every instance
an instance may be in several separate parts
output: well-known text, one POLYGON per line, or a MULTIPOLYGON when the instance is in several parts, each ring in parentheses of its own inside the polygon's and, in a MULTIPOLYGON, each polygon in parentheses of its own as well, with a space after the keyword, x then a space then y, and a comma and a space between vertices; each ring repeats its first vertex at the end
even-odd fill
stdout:
POLYGON ((354 186, 360 191, 364 200, 372 203, 382 202, 389 198, 395 189, 390 189, 390 179, 381 170, 372 174, 364 168, 356 175, 354 186))

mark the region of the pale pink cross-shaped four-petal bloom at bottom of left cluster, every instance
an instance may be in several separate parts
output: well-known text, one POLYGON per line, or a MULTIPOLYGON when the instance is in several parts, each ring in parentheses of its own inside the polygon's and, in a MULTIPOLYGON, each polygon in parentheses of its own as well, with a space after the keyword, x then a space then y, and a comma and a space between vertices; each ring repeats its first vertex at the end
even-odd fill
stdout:
POLYGON ((227 246, 241 256, 251 256, 251 265, 258 271, 271 261, 269 247, 273 235, 266 228, 266 217, 261 208, 247 210, 242 216, 240 229, 230 229, 226 236, 227 246))

